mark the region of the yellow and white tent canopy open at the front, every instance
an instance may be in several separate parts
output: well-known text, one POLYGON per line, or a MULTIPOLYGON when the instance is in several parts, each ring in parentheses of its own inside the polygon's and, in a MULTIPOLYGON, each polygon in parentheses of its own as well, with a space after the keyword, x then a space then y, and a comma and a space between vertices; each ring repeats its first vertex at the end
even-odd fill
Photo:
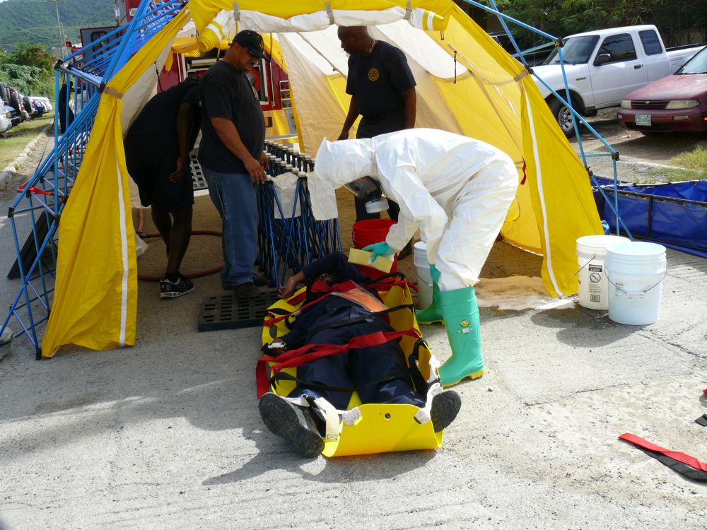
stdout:
POLYGON ((542 254, 551 294, 577 293, 575 240, 602 233, 588 172, 530 73, 452 0, 191 0, 101 95, 59 226, 42 355, 71 343, 96 350, 134 344, 137 267, 122 137, 153 91, 155 63, 171 57, 177 36, 198 35, 193 46, 207 51, 243 29, 262 33, 290 79, 300 148, 313 155, 324 137, 337 138, 348 109, 337 25, 368 25, 375 39, 405 52, 417 81, 416 126, 481 139, 515 160, 520 186, 503 238, 542 254))

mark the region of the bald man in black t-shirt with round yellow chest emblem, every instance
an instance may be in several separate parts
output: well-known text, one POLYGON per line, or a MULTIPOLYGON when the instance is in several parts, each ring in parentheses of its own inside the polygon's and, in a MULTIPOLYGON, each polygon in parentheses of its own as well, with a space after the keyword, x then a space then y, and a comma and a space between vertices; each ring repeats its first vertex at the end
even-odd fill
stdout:
MULTIPOLYGON (((415 126, 415 78, 405 54, 395 46, 374 40, 366 26, 339 27, 341 48, 349 54, 349 77, 346 93, 351 95, 349 112, 339 140, 349 138, 349 131, 361 114, 357 139, 373 138, 415 126)), ((400 208, 388 199, 388 215, 397 221, 400 208)), ((356 220, 376 219, 367 213, 365 199, 356 199, 356 220)), ((409 254, 409 252, 408 252, 409 254)))

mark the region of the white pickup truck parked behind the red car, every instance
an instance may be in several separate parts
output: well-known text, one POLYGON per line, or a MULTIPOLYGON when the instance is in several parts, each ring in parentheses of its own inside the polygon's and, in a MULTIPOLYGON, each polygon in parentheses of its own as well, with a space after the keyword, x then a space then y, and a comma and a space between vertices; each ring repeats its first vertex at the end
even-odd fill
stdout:
MULTIPOLYGON (((562 55, 571 104, 583 116, 598 109, 619 107, 636 88, 670 76, 699 52, 701 45, 665 49, 655 25, 589 31, 563 40, 562 55)), ((557 49, 532 70, 553 90, 567 99, 557 49)), ((540 81, 540 93, 568 137, 574 134, 572 113, 540 81)))

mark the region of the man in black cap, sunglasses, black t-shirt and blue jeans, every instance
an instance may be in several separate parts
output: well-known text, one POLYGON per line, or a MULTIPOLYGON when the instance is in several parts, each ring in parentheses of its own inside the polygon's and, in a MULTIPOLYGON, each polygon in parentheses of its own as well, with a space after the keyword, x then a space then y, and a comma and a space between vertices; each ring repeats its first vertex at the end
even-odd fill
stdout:
POLYGON ((255 186, 265 182, 265 121, 246 73, 265 59, 262 37, 238 33, 220 61, 201 81, 199 163, 209 195, 223 224, 224 289, 239 298, 255 298, 258 208, 255 186))

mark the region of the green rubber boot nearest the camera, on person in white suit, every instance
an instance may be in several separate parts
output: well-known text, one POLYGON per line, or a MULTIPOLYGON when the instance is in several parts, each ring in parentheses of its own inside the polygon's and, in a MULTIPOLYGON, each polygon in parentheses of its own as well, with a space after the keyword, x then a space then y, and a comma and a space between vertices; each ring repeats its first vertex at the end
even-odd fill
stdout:
POLYGON ((440 291, 440 306, 452 348, 452 356, 439 370, 442 386, 457 384, 464 377, 478 379, 484 375, 484 355, 474 288, 440 291))

